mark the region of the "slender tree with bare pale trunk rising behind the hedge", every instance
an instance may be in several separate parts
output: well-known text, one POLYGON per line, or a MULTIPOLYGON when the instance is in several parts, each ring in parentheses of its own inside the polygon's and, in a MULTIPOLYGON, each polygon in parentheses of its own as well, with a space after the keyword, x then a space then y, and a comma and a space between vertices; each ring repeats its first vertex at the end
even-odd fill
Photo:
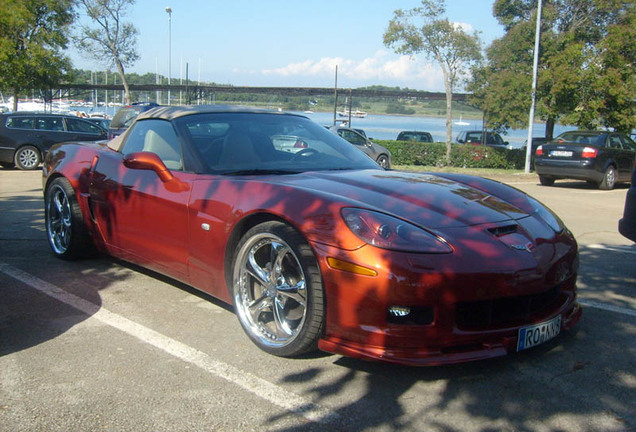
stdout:
POLYGON ((442 69, 446 92, 446 157, 450 160, 453 135, 453 92, 471 64, 481 59, 477 32, 466 33, 461 26, 443 18, 444 0, 422 0, 422 7, 398 9, 384 33, 384 44, 398 54, 424 54, 442 69))

